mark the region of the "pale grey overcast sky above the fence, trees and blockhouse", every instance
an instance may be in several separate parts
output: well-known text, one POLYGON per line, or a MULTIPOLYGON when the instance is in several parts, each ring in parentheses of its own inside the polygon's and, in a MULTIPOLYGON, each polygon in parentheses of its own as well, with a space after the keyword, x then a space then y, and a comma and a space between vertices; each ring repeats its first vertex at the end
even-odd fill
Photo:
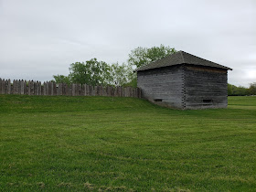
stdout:
POLYGON ((52 80, 92 58, 170 46, 256 81, 256 0, 0 0, 0 78, 52 80))

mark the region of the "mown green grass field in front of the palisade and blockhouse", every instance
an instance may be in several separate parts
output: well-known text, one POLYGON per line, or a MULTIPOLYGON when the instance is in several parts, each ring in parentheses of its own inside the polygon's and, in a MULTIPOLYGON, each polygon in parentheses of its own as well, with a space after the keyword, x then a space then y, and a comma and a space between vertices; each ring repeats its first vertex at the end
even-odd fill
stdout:
POLYGON ((177 111, 0 95, 0 191, 256 191, 256 97, 177 111))

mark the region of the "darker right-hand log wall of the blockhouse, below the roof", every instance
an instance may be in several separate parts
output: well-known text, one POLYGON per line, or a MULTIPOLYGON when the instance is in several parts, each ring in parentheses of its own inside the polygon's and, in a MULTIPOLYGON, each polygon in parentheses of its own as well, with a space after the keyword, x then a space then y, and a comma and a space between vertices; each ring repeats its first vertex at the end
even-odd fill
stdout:
POLYGON ((225 108, 227 69, 185 66, 185 109, 225 108))

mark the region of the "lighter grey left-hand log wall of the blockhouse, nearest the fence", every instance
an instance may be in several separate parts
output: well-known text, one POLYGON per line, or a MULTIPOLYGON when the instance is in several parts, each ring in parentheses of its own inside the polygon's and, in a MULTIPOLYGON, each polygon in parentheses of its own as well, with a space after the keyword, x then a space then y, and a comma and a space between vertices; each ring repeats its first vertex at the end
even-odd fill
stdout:
POLYGON ((182 65, 138 71, 143 97, 159 105, 183 109, 184 67, 182 65))

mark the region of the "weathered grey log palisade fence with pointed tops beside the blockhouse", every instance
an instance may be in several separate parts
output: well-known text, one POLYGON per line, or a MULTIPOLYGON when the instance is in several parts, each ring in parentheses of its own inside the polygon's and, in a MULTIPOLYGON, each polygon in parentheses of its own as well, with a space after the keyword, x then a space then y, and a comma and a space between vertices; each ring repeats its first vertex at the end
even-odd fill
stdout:
POLYGON ((2 80, 0 94, 21 95, 68 95, 68 96, 111 96, 142 98, 139 88, 91 86, 86 84, 65 84, 33 80, 2 80))

